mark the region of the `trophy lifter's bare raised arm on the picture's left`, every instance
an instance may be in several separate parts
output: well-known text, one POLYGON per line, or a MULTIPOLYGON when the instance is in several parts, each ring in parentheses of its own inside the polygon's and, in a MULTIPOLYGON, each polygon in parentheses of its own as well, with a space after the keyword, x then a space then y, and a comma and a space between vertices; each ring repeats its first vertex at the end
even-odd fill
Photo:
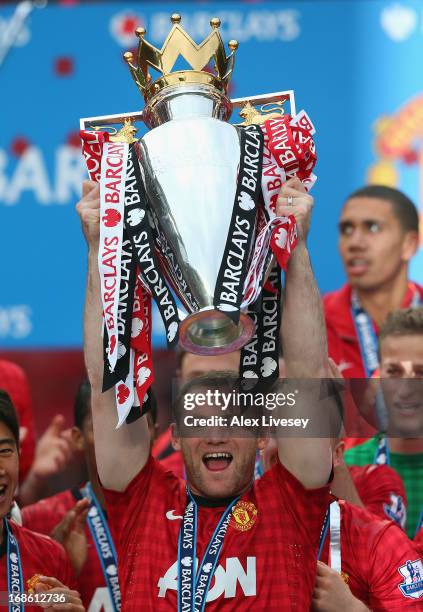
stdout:
POLYGON ((102 309, 98 249, 100 232, 99 188, 85 181, 83 197, 77 204, 88 244, 88 282, 84 313, 84 355, 91 383, 91 410, 97 470, 104 487, 123 491, 145 465, 150 451, 146 417, 116 429, 114 390, 101 392, 103 379, 102 309))

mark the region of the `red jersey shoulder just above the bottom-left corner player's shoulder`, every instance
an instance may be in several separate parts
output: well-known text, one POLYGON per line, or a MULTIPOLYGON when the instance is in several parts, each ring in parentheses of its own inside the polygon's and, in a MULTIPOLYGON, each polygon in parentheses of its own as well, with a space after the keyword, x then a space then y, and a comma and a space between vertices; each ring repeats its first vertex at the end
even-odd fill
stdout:
POLYGON ((22 508, 22 524, 27 529, 49 535, 75 503, 70 490, 46 497, 22 508))

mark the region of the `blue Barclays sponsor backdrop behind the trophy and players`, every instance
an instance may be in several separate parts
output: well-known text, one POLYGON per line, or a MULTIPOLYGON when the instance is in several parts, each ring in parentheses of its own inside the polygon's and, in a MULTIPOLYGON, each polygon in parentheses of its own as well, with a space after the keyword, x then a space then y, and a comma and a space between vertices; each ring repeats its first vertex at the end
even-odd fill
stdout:
MULTIPOLYGON (((3 51, 14 10, 0 9, 3 51)), ((142 106, 122 52, 133 48, 131 33, 140 23, 161 45, 174 10, 197 42, 215 15, 225 41, 239 40, 233 97, 294 89, 297 109, 314 121, 319 161, 310 246, 322 291, 343 281, 337 218, 344 197, 369 172, 420 202, 421 2, 121 2, 34 10, 0 66, 4 348, 81 345, 86 253, 74 211, 85 177, 79 118, 142 106), (389 157, 375 141, 387 121, 398 149, 389 157)), ((420 254, 413 264, 420 281, 421 264, 420 254)), ((154 342, 164 344, 159 327, 154 342)))

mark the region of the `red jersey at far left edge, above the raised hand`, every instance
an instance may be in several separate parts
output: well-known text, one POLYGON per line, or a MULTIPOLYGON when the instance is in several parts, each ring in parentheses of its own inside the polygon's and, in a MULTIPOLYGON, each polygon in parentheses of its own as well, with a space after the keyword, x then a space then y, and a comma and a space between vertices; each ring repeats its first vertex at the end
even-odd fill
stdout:
POLYGON ((0 359, 0 389, 10 395, 19 418, 19 482, 23 482, 34 461, 35 435, 28 379, 16 363, 0 359))

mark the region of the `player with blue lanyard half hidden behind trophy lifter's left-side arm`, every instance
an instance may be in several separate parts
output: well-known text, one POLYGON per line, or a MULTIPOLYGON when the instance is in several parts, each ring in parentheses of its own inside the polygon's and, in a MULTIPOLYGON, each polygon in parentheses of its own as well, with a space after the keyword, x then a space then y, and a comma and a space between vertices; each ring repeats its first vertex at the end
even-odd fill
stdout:
POLYGON ((117 559, 97 477, 90 404, 91 387, 85 381, 75 398, 72 439, 75 450, 84 453, 89 481, 80 489, 63 491, 25 507, 22 521, 29 529, 52 535, 64 545, 87 610, 116 612, 120 609, 117 559))

